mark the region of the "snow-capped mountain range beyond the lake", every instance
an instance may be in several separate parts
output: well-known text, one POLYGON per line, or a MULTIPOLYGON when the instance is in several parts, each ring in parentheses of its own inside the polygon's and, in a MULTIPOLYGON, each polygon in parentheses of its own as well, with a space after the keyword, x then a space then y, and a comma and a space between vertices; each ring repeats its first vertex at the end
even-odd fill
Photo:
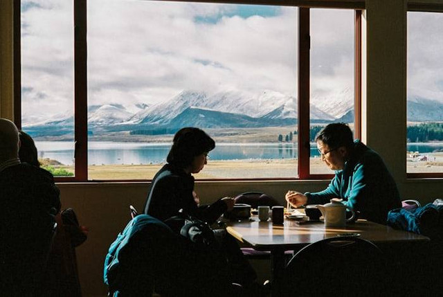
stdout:
MULTIPOLYGON (((311 123, 354 119, 354 93, 343 89, 327 96, 312 94, 311 123)), ((180 127, 201 128, 278 127, 296 125, 296 98, 276 91, 246 93, 224 91, 207 95, 204 92, 182 91, 170 100, 155 105, 145 103, 91 105, 88 107, 90 133, 138 131, 156 133, 177 131, 180 127)), ((408 120, 442 121, 443 103, 426 98, 408 98, 408 120)), ((33 136, 57 136, 73 129, 73 117, 59 114, 32 123, 24 118, 24 129, 33 136)))

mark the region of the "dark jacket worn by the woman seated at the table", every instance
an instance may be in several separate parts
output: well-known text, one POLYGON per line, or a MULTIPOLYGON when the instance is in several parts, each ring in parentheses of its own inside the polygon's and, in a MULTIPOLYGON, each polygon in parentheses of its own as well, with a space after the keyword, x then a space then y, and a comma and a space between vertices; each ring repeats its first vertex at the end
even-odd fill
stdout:
POLYGON ((194 177, 181 168, 166 164, 152 179, 144 213, 165 221, 183 210, 204 222, 212 224, 226 210, 224 201, 218 200, 209 206, 197 206, 192 196, 194 177))

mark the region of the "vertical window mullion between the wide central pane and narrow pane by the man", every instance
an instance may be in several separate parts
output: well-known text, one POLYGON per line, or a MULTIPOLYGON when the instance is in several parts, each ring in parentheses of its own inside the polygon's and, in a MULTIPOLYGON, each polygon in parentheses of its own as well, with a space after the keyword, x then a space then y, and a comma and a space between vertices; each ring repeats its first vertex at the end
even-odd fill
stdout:
POLYGON ((309 8, 298 10, 298 176, 309 177, 309 8))

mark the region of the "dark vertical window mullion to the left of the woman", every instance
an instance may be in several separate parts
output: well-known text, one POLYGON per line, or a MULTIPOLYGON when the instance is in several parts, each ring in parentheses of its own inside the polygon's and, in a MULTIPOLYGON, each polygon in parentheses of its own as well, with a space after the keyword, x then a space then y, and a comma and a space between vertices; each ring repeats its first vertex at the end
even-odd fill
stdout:
POLYGON ((75 180, 88 179, 87 1, 74 0, 75 180))

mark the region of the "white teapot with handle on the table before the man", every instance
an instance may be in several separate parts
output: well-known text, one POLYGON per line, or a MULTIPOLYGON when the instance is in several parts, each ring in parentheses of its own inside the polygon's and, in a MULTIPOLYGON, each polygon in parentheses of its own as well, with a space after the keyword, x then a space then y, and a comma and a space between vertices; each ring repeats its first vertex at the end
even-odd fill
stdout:
POLYGON ((317 206, 325 218, 326 227, 345 227, 347 222, 354 220, 354 210, 342 204, 341 201, 342 199, 333 198, 330 203, 317 206), (346 219, 346 208, 352 212, 352 217, 349 219, 346 219))

